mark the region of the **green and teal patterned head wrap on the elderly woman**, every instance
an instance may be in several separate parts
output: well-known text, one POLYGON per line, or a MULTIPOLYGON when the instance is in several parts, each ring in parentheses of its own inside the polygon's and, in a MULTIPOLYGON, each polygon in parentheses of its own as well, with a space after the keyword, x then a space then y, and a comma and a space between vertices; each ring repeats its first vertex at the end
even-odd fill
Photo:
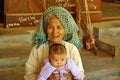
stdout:
POLYGON ((38 29, 34 35, 33 43, 37 44, 38 47, 47 41, 47 35, 45 29, 47 24, 53 16, 58 17, 62 25, 64 26, 65 32, 63 40, 73 43, 76 47, 80 46, 80 40, 78 38, 78 26, 75 23, 72 15, 63 7, 51 6, 43 12, 40 18, 38 29))

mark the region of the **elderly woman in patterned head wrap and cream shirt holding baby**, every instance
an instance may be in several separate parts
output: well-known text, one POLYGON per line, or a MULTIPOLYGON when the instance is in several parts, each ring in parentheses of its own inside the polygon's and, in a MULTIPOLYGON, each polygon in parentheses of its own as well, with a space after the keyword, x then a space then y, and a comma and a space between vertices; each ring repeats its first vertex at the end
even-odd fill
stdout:
MULTIPOLYGON (((54 43, 65 45, 67 56, 74 60, 84 76, 80 53, 77 49, 81 46, 77 31, 78 26, 74 19, 63 7, 51 6, 43 12, 33 40, 35 46, 32 48, 26 62, 25 80, 37 80, 44 65, 44 59, 48 57, 49 47, 54 43)), ((64 77, 72 80, 70 71, 66 71, 68 73, 64 73, 64 77)), ((56 80, 59 77, 59 74, 51 74, 49 80, 56 80)))

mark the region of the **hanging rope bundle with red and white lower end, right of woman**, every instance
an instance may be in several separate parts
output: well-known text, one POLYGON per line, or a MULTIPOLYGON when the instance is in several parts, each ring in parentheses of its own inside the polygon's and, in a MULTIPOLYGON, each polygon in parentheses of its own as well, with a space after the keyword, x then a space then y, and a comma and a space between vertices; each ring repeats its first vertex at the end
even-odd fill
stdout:
POLYGON ((85 3, 85 15, 81 13, 82 6, 80 5, 80 0, 76 0, 76 23, 87 34, 87 36, 84 38, 86 49, 91 50, 95 55, 98 55, 99 51, 95 45, 94 35, 90 30, 92 24, 91 24, 87 0, 84 0, 84 3, 85 3))

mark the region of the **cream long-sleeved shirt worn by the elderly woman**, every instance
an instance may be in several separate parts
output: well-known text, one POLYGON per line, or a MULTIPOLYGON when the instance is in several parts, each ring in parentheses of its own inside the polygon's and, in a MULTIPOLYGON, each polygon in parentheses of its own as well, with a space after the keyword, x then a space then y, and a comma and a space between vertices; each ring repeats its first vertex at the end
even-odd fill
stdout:
MULTIPOLYGON (((79 70, 84 76, 84 69, 80 57, 80 53, 77 47, 69 42, 64 41, 64 45, 67 49, 67 57, 70 57, 74 60, 79 70)), ((26 62, 25 67, 25 80, 37 80, 37 77, 40 73, 41 68, 44 65, 44 59, 48 57, 48 45, 46 43, 42 44, 39 48, 34 46, 30 52, 30 56, 26 62)))

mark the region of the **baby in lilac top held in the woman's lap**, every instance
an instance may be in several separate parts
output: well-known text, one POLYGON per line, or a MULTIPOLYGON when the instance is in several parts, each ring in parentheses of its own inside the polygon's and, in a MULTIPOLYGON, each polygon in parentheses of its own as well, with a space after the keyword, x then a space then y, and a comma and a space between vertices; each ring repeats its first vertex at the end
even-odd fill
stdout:
POLYGON ((67 57, 67 50, 62 44, 53 44, 49 49, 48 59, 45 59, 43 66, 37 80, 47 80, 51 74, 59 74, 60 79, 64 78, 66 70, 70 70, 74 80, 80 80, 82 73, 78 69, 74 61, 67 57))

